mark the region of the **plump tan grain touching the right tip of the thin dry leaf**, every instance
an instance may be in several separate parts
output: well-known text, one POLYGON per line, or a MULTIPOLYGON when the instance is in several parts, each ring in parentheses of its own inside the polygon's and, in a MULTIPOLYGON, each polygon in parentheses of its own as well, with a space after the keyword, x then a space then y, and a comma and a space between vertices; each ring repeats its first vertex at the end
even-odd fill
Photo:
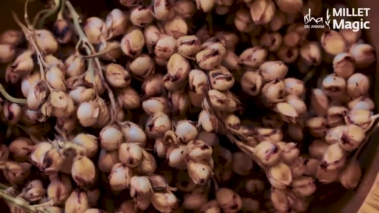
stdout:
POLYGON ((141 55, 142 49, 145 45, 145 39, 140 29, 131 31, 125 34, 121 41, 121 50, 125 55, 135 58, 141 55))

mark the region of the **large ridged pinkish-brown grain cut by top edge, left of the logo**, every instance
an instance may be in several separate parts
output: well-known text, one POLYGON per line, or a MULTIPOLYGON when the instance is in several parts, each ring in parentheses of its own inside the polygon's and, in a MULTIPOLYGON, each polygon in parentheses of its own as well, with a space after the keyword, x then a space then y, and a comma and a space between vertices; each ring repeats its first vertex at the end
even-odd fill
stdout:
POLYGON ((275 10, 275 4, 271 0, 255 0, 250 4, 250 14, 255 24, 269 23, 275 10))

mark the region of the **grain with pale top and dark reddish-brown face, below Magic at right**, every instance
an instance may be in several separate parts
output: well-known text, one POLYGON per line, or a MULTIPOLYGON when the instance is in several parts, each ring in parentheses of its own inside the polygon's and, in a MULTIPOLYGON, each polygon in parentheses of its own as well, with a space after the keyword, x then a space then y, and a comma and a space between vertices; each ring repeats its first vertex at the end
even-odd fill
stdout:
POLYGON ((350 53, 340 53, 333 59, 333 72, 342 78, 349 78, 355 70, 355 59, 350 53))

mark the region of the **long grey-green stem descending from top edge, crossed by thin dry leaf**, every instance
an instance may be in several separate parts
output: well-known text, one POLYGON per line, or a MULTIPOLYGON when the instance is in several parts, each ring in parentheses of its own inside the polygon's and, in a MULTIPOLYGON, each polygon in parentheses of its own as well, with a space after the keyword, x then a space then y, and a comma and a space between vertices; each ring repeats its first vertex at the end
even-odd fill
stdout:
MULTIPOLYGON (((71 13, 72 19, 74 20, 75 29, 76 29, 77 33, 79 34, 80 40, 83 42, 83 46, 89 47, 89 49, 86 48, 87 54, 91 55, 91 54, 96 53, 94 46, 88 41, 87 36, 85 35, 85 33, 83 32, 83 30, 80 27, 80 24, 79 24, 79 18, 80 17, 78 15, 78 13, 76 13, 74 7, 71 5, 71 3, 69 1, 66 1, 66 5, 67 5, 67 8, 69 9, 69 11, 71 13)), ((98 58, 95 58, 95 63, 96 63, 96 66, 99 70, 98 75, 100 77, 100 80, 102 81, 106 91, 108 91, 108 96, 109 96, 109 99, 111 101, 111 105, 113 108, 113 111, 111 112, 111 123, 113 123, 114 118, 116 117, 116 112, 117 112, 116 100, 114 99, 114 95, 113 95, 111 88, 108 86, 108 84, 105 81, 103 71, 101 68, 101 64, 100 64, 100 61, 98 58)), ((90 65, 91 65, 91 63, 90 63, 90 65)))

